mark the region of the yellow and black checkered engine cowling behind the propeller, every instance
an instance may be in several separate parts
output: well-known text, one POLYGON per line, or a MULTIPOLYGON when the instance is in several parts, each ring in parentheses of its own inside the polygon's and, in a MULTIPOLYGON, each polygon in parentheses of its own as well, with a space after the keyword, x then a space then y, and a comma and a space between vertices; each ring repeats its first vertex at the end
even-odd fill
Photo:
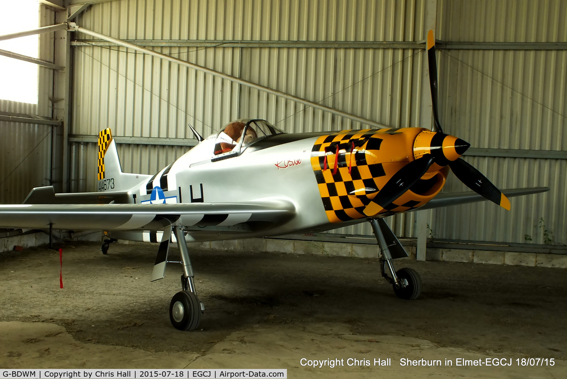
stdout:
MULTIPOLYGON (((427 129, 342 130, 321 135, 311 165, 329 222, 368 217, 363 210, 399 169, 414 160, 413 143, 427 129)), ((420 207, 441 191, 448 168, 426 173, 405 194, 380 210, 387 216, 420 207)))

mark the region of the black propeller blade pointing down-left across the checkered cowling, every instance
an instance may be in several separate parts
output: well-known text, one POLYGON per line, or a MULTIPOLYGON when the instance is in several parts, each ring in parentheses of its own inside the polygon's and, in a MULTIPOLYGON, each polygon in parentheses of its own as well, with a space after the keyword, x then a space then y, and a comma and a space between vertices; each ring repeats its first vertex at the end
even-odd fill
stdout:
POLYGON ((376 198, 364 208, 364 214, 373 216, 389 205, 392 201, 399 198, 411 186, 416 184, 418 180, 428 171, 433 164, 434 158, 431 154, 411 161, 388 180, 386 185, 382 187, 376 198))

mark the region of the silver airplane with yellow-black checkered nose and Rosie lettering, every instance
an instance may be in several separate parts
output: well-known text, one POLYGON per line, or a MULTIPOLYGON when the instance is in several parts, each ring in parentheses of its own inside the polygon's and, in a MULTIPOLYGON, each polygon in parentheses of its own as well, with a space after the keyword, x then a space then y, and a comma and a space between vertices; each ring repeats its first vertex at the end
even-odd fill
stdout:
POLYGON ((284 133, 265 120, 230 122, 153 176, 122 172, 116 141, 98 140, 98 191, 54 193, 34 188, 22 205, 0 205, 0 227, 108 232, 116 239, 160 242, 151 280, 164 277, 171 242, 179 246, 182 291, 170 303, 180 330, 199 325, 203 304, 193 282, 187 242, 327 231, 370 222, 382 276, 401 299, 416 299, 421 279, 392 259, 408 254, 383 218, 489 199, 510 209, 506 196, 548 188, 500 191, 460 156, 469 144, 442 133, 437 112, 433 35, 428 37, 437 131, 402 129, 284 133), (439 194, 448 171, 475 192, 439 194), (65 204, 65 206, 61 206, 65 204))

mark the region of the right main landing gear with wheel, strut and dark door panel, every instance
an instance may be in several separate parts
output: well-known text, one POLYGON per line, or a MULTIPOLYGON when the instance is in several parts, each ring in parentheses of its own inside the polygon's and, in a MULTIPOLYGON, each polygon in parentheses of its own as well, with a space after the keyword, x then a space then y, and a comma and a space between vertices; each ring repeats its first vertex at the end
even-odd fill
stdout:
POLYGON ((369 221, 376 240, 378 240, 378 246, 380 246, 380 272, 382 272, 382 276, 388 283, 392 284, 393 292, 400 299, 417 299, 421 293, 420 275, 416 270, 409 267, 396 271, 392 264, 392 259, 404 258, 408 254, 383 219, 370 219, 369 221), (388 267, 392 276, 388 275, 386 267, 388 267))

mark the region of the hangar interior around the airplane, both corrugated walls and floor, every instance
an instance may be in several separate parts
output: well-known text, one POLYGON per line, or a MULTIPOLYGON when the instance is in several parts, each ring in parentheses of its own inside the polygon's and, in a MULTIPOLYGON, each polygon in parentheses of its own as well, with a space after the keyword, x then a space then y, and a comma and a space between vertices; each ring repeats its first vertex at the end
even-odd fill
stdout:
MULTIPOLYGON (((550 268, 567 268, 567 2, 10 0, 1 7, 1 35, 74 22, 178 59, 67 26, 0 40, 0 63, 12 65, 0 89, 2 203, 22 203, 38 186, 96 191, 96 142, 106 127, 124 172, 139 174, 158 172, 197 144, 188 124, 204 137, 240 118, 265 118, 289 133, 430 129, 429 29, 437 40, 441 121, 446 133, 471 143, 464 159, 500 189, 550 189, 512 199, 510 211, 480 202, 387 218, 413 259, 453 261, 401 263, 418 267, 429 283, 421 303, 400 305, 390 286, 375 283, 368 223, 196 244, 197 285, 210 316, 193 339, 164 317, 179 273, 168 268, 154 287, 136 280, 148 276, 155 245, 117 244, 104 261, 100 245, 75 234, 65 245, 65 283, 74 290, 57 292, 59 256, 31 248, 48 235, 6 229, 2 367, 252 367, 263 357, 312 377, 297 363, 312 342, 321 354, 345 357, 392 348, 396 357, 513 352, 514 359, 555 357, 554 369, 567 370, 567 288, 564 271, 550 268), (14 245, 26 250, 8 251, 14 245), (54 364, 54 356, 64 360, 54 364)), ((454 176, 443 189, 466 190, 454 176)), ((557 377, 550 370, 538 374, 557 377)), ((466 373, 526 375, 522 368, 466 373)))

